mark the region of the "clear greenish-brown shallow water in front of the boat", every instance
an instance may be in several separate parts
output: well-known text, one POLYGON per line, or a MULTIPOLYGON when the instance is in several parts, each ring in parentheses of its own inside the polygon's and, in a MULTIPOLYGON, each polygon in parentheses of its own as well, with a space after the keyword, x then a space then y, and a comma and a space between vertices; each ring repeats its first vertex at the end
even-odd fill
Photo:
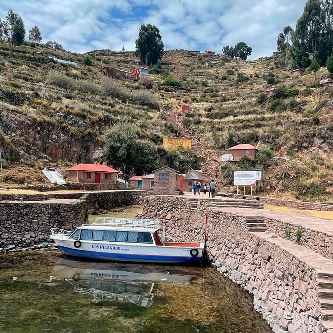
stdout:
POLYGON ((0 332, 271 330, 251 296, 213 268, 80 262, 35 251, 0 269, 0 332))

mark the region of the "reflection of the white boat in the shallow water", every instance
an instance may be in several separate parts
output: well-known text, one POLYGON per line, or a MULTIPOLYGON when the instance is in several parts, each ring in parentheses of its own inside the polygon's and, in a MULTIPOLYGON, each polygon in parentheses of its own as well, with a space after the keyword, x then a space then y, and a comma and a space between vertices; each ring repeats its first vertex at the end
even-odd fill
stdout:
POLYGON ((153 304, 158 285, 190 282, 196 277, 181 269, 70 259, 62 259, 51 273, 51 281, 66 280, 74 291, 92 295, 94 303, 116 301, 144 307, 153 304))

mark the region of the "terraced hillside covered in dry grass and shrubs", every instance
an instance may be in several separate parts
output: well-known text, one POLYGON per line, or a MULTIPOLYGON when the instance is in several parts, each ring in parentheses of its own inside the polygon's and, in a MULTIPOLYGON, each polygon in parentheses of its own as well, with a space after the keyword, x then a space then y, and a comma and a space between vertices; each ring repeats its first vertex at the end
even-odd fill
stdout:
MULTIPOLYGON (((271 58, 236 62, 166 51, 162 68, 150 74, 159 82, 151 89, 98 73, 105 65, 135 69, 133 52, 92 51, 87 66, 83 55, 40 49, 46 57, 36 59, 33 50, 0 45, 0 138, 7 182, 9 175, 16 177, 12 182, 43 181, 44 165, 98 161, 107 129, 126 121, 157 146, 166 136, 195 139, 193 151, 202 158, 202 168, 225 186, 231 184, 233 169, 242 166, 220 166, 219 155, 236 144, 259 144, 269 157, 250 167, 264 169, 262 193, 333 201, 333 89, 315 86, 313 73, 290 78, 271 58), (78 68, 53 63, 48 55, 78 61, 78 68), (164 85, 167 75, 181 86, 164 85), (265 100, 261 94, 271 86, 279 89, 265 100), (191 108, 185 116, 183 104, 191 108), (272 158, 270 151, 298 162, 272 158)), ((321 68, 316 81, 328 77, 321 68)), ((163 152, 161 163, 168 162, 163 152)))

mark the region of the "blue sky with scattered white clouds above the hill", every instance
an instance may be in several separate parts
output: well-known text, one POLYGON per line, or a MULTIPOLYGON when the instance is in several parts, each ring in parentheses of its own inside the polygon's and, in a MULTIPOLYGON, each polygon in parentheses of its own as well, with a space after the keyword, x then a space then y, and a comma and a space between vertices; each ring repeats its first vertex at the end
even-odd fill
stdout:
POLYGON ((165 49, 214 50, 244 41, 249 59, 270 55, 286 25, 295 27, 306 0, 0 0, 0 18, 9 9, 43 41, 66 50, 135 49, 141 24, 160 29, 165 49))

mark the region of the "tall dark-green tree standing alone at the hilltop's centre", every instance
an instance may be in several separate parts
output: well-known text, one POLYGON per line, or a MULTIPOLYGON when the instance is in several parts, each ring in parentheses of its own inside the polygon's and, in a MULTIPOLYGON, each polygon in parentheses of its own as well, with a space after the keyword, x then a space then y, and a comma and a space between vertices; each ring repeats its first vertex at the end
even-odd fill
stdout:
POLYGON ((160 30, 151 24, 142 25, 135 41, 136 55, 143 65, 156 65, 163 56, 163 42, 160 30))

